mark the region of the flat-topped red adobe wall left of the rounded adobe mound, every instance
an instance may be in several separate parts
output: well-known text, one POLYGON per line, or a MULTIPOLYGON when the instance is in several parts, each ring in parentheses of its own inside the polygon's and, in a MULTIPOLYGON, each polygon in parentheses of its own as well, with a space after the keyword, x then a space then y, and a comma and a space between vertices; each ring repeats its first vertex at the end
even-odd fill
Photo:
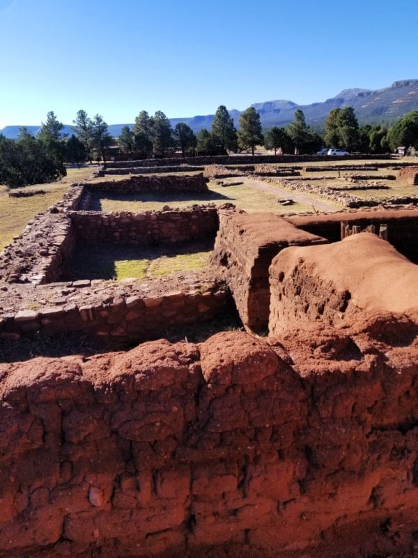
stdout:
POLYGON ((318 235, 297 229, 273 213, 220 211, 212 262, 227 270, 226 277, 247 331, 267 329, 269 266, 286 246, 327 243, 318 235))

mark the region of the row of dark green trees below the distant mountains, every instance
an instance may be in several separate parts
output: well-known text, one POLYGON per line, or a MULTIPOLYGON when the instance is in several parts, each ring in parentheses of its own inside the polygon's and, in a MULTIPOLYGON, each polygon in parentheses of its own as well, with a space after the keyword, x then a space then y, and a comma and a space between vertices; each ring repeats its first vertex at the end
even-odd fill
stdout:
MULTIPOLYGON (((79 110, 72 122, 70 137, 63 135, 63 123, 54 112, 36 137, 20 128, 17 140, 0 134, 0 184, 10 187, 51 182, 66 174, 65 163, 81 164, 86 160, 106 162, 109 147, 115 140, 108 132, 100 114, 90 118, 79 110)), ((223 155, 251 150, 256 146, 277 153, 316 153, 323 146, 358 151, 388 153, 398 146, 418 153, 418 111, 405 114, 393 126, 359 126, 352 107, 333 109, 327 116, 323 133, 307 125, 302 110, 297 110, 288 126, 262 130, 260 115, 254 107, 242 112, 238 130, 224 105, 217 108, 210 130, 203 128, 196 135, 186 123, 175 128, 162 111, 150 116, 145 110, 135 118, 132 130, 124 126, 117 144, 127 158, 164 158, 173 151, 190 155, 223 155)))

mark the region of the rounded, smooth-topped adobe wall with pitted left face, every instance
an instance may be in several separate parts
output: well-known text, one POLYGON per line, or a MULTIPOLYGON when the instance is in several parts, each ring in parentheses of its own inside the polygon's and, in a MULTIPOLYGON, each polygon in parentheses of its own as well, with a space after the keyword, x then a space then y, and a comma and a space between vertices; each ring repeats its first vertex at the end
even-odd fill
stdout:
POLYGON ((353 326, 371 313, 418 308, 418 266, 376 234, 282 250, 270 266, 271 335, 321 322, 353 326))

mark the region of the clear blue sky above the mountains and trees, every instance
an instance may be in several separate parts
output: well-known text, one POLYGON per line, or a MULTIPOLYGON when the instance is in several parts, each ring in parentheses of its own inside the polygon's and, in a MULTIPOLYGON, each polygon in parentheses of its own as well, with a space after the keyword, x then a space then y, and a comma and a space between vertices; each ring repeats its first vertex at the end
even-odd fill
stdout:
POLYGON ((418 0, 0 0, 0 129, 418 79, 418 0))

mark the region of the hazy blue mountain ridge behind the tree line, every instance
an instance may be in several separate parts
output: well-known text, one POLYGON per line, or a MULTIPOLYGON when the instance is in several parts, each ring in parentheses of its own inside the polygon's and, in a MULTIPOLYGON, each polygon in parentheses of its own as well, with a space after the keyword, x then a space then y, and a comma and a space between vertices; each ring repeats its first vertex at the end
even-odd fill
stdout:
MULTIPOLYGON (((304 112, 305 120, 313 128, 322 128, 330 111, 336 108, 353 107, 359 124, 385 124, 389 126, 400 119, 404 114, 412 110, 418 110, 418 80, 401 80, 394 82, 384 89, 344 89, 335 97, 325 100, 323 103, 312 103, 311 105, 297 105, 291 100, 269 100, 265 103, 254 103, 251 105, 260 114, 263 128, 272 126, 284 127, 293 121, 295 111, 300 109, 304 112)), ((242 111, 230 110, 235 126, 242 111)), ((178 122, 185 122, 194 133, 202 128, 210 130, 212 127, 213 114, 206 116, 187 116, 184 118, 171 118, 173 128, 178 122)), ((109 133, 114 137, 121 134, 123 126, 130 124, 111 124, 109 133)), ((6 126, 0 133, 6 137, 15 139, 19 133, 20 126, 6 126)), ((33 134, 38 133, 40 126, 26 126, 33 134)), ((65 126, 63 133, 71 134, 71 126, 65 126)))

